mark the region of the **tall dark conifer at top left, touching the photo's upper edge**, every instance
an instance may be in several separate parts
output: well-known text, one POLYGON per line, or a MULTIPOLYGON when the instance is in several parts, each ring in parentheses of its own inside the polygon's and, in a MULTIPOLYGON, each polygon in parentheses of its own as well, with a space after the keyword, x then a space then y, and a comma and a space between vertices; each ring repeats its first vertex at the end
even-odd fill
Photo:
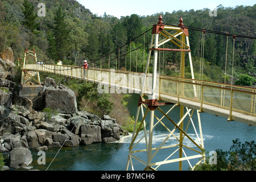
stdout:
POLYGON ((34 6, 31 5, 27 0, 24 0, 22 13, 24 15, 24 20, 21 21, 23 26, 33 32, 33 34, 39 34, 39 31, 36 30, 39 23, 35 22, 37 15, 34 13, 34 6))

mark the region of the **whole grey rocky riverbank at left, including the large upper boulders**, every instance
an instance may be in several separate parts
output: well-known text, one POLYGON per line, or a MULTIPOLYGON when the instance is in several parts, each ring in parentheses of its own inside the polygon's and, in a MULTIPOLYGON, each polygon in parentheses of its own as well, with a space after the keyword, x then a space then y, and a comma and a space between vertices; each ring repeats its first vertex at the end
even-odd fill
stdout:
POLYGON ((78 111, 74 92, 53 78, 45 79, 33 100, 19 96, 11 81, 14 68, 13 61, 0 59, 0 152, 9 154, 2 170, 28 166, 31 148, 111 143, 129 135, 109 115, 78 111))

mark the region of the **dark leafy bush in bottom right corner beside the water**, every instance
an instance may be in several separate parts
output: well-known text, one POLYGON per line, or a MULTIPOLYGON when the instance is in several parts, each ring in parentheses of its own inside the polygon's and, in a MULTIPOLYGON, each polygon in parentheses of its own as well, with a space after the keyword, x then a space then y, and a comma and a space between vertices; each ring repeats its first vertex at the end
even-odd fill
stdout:
POLYGON ((255 141, 241 143, 233 140, 229 151, 216 150, 217 164, 206 162, 195 166, 195 171, 255 171, 256 170, 256 143, 255 141))

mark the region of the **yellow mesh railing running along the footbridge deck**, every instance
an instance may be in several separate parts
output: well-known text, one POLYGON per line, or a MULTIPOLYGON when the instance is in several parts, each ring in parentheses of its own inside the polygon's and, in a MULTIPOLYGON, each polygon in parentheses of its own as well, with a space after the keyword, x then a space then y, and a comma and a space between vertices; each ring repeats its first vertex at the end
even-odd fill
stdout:
MULTIPOLYGON (((69 65, 26 64, 26 70, 54 73, 83 80, 83 68, 69 65)), ((115 71, 113 69, 90 68, 86 72, 85 80, 125 88, 127 92, 136 92, 142 89, 143 73, 115 71)), ((221 84, 218 82, 192 80, 171 76, 158 76, 155 90, 162 100, 166 96, 198 103, 200 110, 204 105, 229 110, 229 119, 233 112, 256 117, 256 89, 245 86, 221 84)), ((151 93, 151 74, 147 74, 143 93, 151 93)), ((256 122, 256 121, 255 121, 256 122)))

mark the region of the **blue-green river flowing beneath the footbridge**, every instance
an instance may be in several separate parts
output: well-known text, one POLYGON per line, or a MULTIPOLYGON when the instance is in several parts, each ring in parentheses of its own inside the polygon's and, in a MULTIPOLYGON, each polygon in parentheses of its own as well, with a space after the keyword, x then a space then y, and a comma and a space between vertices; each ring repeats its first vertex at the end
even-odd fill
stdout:
MULTIPOLYGON (((138 98, 138 94, 131 94, 131 97, 125 98, 125 101, 128 101, 127 107, 131 115, 134 116, 137 111, 138 98)), ((170 108, 170 106, 165 107, 163 110, 170 108)), ((176 119, 179 118, 178 107, 172 113, 174 119, 175 117, 176 119)), ((248 126, 237 121, 227 122, 226 118, 217 117, 208 113, 201 113, 201 122, 206 151, 215 151, 217 149, 222 149, 223 151, 229 150, 233 144, 232 140, 237 138, 242 143, 255 140, 256 127, 254 126, 248 126)), ((166 129, 157 127, 155 129, 154 143, 159 145, 167 134, 169 133, 166 129)), ((38 164, 37 159, 39 156, 37 156, 37 151, 33 149, 31 151, 34 161, 30 166, 33 167, 32 169, 39 170, 46 170, 48 168, 49 171, 123 171, 126 169, 130 139, 131 136, 123 139, 120 143, 96 143, 89 146, 63 147, 59 152, 59 148, 49 148, 46 151, 45 165, 38 164), (58 155, 54 159, 56 154, 58 155)), ((173 137, 169 140, 169 142, 175 141, 173 137)), ((190 143, 187 144, 189 145, 190 143)), ((165 152, 168 151, 159 152, 159 155, 170 155, 165 154, 165 152)), ((194 159, 192 162, 197 161, 198 159, 194 159)), ((141 170, 144 167, 138 162, 134 162, 134 166, 137 170, 141 170)), ((183 171, 188 169, 189 163, 184 161, 183 171)), ((178 163, 163 165, 159 170, 178 170, 178 163)))

